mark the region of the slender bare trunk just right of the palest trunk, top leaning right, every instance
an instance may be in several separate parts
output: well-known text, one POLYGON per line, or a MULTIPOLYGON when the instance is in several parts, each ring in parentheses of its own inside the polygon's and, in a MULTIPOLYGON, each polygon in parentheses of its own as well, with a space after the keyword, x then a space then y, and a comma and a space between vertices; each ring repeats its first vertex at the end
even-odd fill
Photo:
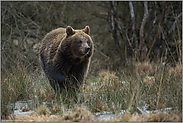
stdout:
POLYGON ((139 46, 138 58, 140 56, 142 45, 144 43, 144 26, 146 24, 147 16, 148 16, 148 6, 147 6, 147 2, 144 2, 144 17, 142 20, 142 24, 140 26, 140 46, 139 46))

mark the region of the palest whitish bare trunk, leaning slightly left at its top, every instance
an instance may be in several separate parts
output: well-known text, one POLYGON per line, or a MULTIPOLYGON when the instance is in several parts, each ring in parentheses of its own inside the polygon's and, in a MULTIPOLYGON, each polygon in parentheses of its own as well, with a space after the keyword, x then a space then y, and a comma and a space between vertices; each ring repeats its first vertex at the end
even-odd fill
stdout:
POLYGON ((138 50, 138 40, 137 40, 136 32, 135 32, 135 14, 134 14, 134 9, 133 9, 133 4, 131 1, 129 2, 129 7, 130 7, 130 14, 131 14, 131 21, 132 21, 133 43, 135 43, 134 56, 135 56, 135 60, 136 60, 137 59, 137 50, 138 50))

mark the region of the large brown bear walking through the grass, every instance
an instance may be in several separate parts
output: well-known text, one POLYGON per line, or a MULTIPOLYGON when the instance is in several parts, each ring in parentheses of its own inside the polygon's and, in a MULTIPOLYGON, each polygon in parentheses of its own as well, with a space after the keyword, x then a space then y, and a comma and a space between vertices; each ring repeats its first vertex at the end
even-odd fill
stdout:
POLYGON ((94 50, 89 34, 89 26, 82 30, 67 26, 52 30, 43 38, 41 66, 55 92, 77 89, 82 84, 94 50))

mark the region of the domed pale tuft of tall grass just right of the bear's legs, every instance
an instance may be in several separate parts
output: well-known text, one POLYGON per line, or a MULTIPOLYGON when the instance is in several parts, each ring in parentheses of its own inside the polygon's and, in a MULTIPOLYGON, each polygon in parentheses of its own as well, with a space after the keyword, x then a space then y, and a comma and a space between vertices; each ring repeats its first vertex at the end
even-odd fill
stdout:
POLYGON ((98 80, 87 82, 82 88, 83 104, 90 107, 92 112, 119 112, 126 108, 129 84, 120 81, 115 73, 103 71, 99 73, 98 80))

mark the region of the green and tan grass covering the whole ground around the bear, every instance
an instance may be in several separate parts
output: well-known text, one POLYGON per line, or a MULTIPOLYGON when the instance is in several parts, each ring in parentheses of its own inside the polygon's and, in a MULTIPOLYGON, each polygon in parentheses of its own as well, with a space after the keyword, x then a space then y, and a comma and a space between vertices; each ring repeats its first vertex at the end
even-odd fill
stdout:
POLYGON ((81 87, 76 102, 72 101, 72 97, 66 102, 64 98, 67 98, 67 94, 56 99, 42 73, 36 71, 30 74, 24 66, 19 66, 15 73, 2 78, 1 118, 20 122, 95 122, 95 112, 107 111, 117 115, 121 110, 126 110, 128 113, 125 115, 101 122, 181 121, 177 115, 182 111, 181 66, 144 62, 136 65, 135 74, 101 71, 81 87), (10 108, 9 104, 20 100, 33 100, 35 106, 28 108, 35 112, 30 116, 10 115, 16 107, 10 108), (42 102, 46 105, 42 105, 42 102), (135 113, 138 111, 137 107, 142 109, 144 105, 147 106, 146 110, 172 107, 178 113, 135 113))

